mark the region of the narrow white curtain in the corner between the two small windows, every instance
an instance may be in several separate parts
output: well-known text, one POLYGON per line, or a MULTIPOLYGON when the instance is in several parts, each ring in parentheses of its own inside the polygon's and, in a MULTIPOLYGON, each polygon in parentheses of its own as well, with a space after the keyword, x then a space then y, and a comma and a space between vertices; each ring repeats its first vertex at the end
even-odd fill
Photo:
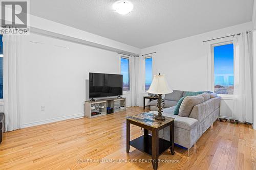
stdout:
POLYGON ((130 87, 131 87, 131 106, 134 107, 136 106, 136 81, 135 81, 135 57, 132 56, 130 57, 130 87))

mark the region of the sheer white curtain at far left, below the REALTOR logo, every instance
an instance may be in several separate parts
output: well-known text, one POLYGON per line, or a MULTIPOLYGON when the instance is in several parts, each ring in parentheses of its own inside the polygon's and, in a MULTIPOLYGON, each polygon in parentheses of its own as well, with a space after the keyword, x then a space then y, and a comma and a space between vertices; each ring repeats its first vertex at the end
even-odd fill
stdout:
POLYGON ((20 36, 3 36, 4 107, 6 131, 20 128, 19 123, 19 56, 20 36))

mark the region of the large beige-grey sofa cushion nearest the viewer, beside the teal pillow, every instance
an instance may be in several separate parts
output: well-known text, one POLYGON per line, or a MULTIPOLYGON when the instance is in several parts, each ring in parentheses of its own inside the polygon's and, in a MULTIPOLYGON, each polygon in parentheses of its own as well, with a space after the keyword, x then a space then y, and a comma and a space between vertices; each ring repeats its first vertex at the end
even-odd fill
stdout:
POLYGON ((186 96, 180 106, 179 116, 188 117, 193 107, 204 102, 204 98, 201 95, 186 96))

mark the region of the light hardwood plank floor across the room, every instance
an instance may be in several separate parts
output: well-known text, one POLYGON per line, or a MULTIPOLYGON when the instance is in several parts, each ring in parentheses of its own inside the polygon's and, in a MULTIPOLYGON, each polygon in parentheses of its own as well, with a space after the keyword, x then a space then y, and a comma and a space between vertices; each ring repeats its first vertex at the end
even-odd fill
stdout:
MULTIPOLYGON (((4 133, 0 169, 153 169, 150 156, 133 147, 126 154, 125 117, 142 111, 130 107, 94 119, 4 133)), ((131 139, 142 134, 131 125, 131 139)), ((256 131, 249 125, 215 122, 213 130, 209 128, 198 140, 196 152, 191 149, 189 157, 187 150, 176 147, 175 152, 174 156, 163 153, 159 159, 169 163, 160 162, 158 169, 256 169, 256 131)))

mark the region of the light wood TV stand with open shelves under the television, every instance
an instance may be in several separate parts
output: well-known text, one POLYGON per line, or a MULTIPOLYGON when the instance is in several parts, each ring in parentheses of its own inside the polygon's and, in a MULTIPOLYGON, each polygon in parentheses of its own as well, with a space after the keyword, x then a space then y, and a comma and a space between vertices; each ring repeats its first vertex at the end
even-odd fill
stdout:
MULTIPOLYGON (((94 118, 98 116, 106 115, 106 107, 113 108, 113 113, 126 110, 126 98, 105 98, 95 101, 85 101, 84 102, 84 115, 88 118, 94 118), (96 109, 91 110, 92 106, 96 106, 96 109), (104 106, 104 108, 99 109, 99 106, 104 106), (124 109, 120 109, 121 106, 124 106, 124 109), (101 114, 93 115, 92 112, 98 111, 101 114)), ((110 114, 113 114, 110 113, 110 114)))

